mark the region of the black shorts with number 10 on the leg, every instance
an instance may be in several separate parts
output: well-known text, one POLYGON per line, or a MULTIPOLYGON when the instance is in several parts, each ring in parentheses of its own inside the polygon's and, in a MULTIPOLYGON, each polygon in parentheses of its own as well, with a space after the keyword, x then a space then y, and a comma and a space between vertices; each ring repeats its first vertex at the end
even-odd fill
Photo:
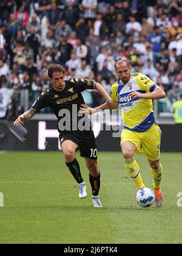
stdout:
POLYGON ((71 140, 78 145, 81 157, 97 160, 97 148, 95 136, 92 130, 83 132, 61 132, 59 135, 61 144, 71 140))

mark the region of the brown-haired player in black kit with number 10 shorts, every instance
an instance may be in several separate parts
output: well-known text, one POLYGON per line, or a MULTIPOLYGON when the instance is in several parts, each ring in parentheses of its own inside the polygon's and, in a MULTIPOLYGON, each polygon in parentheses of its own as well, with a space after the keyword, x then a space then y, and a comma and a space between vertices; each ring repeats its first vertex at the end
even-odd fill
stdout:
POLYGON ((48 76, 52 87, 45 90, 33 104, 32 108, 19 116, 14 124, 15 126, 23 126, 24 121, 30 120, 42 108, 52 108, 58 118, 59 139, 66 165, 79 184, 79 197, 81 199, 85 198, 87 191, 86 183, 81 176, 79 163, 75 158, 75 152, 78 148, 81 156, 85 158, 87 168, 89 169, 93 206, 102 207, 99 199, 100 172, 97 165, 96 141, 88 117, 79 116, 79 109, 84 104, 81 92, 86 89, 97 90, 109 104, 112 103, 112 99, 106 90, 93 80, 76 78, 65 80, 65 69, 63 66, 50 65, 48 76), (69 115, 66 112, 68 110, 69 115), (81 118, 84 118, 84 122, 82 122, 83 119, 81 120, 81 118), (89 129, 78 129, 79 124, 82 123, 89 123, 89 126, 87 125, 89 129))

